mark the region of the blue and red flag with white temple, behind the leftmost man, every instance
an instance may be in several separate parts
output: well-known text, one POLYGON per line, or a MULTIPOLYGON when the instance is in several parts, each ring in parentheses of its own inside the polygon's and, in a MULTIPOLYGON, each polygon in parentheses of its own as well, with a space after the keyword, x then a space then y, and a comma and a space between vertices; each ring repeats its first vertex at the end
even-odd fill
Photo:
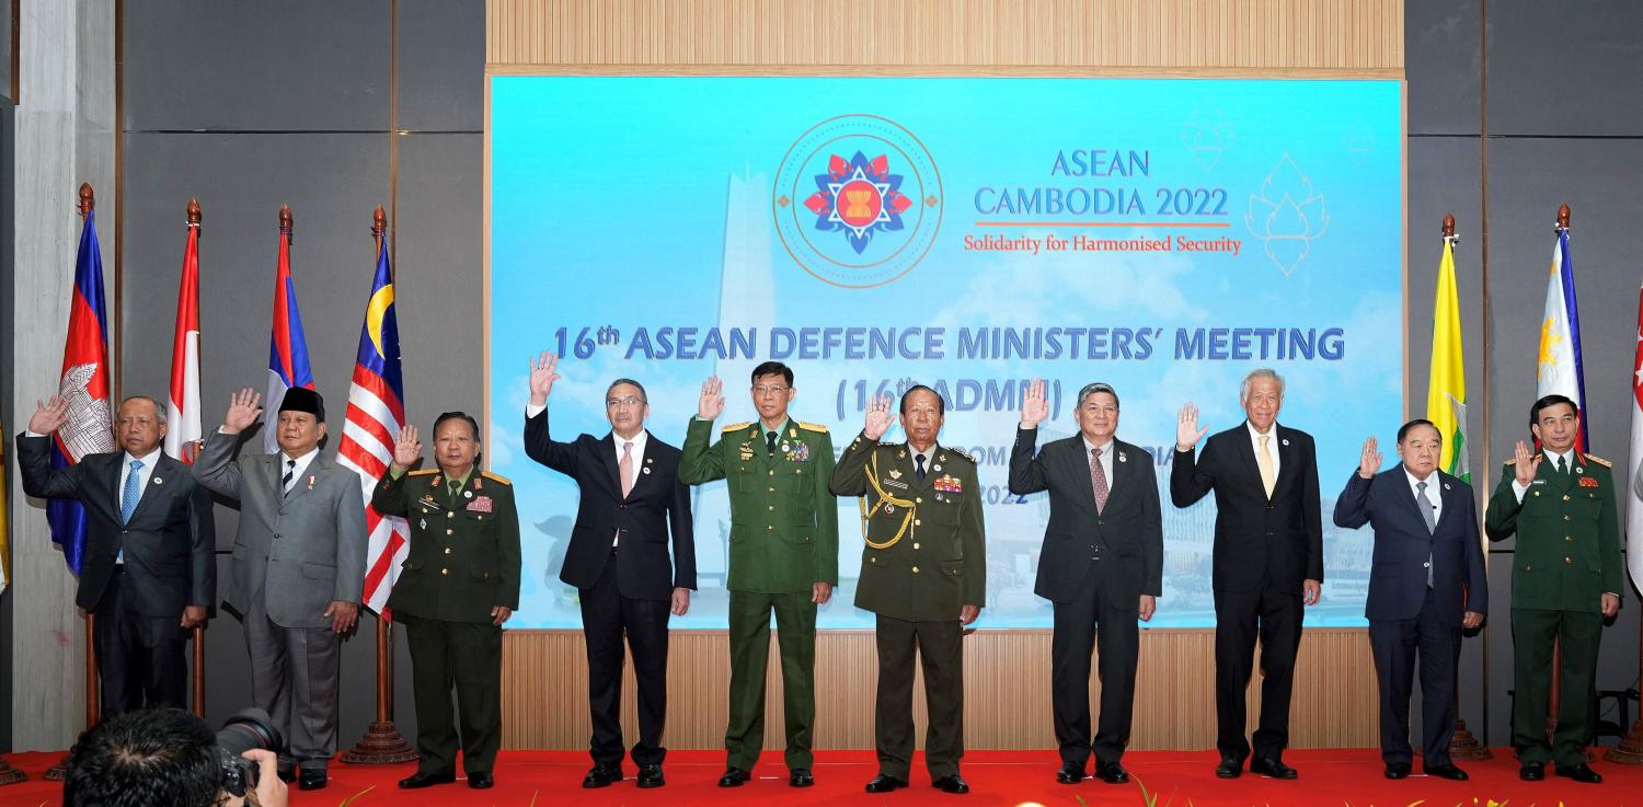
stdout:
MULTIPOLYGON (((51 467, 76 465, 87 454, 113 450, 113 422, 108 408, 108 316, 102 294, 102 248, 97 247, 97 217, 87 205, 81 230, 81 253, 74 261, 74 299, 69 301, 69 339, 62 347, 62 376, 58 394, 69 401, 69 422, 53 439, 51 467)), ((62 547, 69 570, 81 574, 85 554, 85 510, 79 500, 46 501, 51 541, 62 547)))

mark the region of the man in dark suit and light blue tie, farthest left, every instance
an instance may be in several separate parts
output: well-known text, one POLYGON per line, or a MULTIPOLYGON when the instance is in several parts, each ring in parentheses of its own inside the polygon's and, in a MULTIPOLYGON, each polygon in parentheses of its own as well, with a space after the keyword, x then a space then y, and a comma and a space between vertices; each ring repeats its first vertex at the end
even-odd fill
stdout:
POLYGON ((166 457, 166 411, 146 396, 120 403, 120 452, 89 454, 51 467, 51 434, 69 419, 59 396, 35 411, 18 436, 23 491, 74 498, 87 536, 74 603, 97 620, 92 644, 102 682, 102 718, 143 705, 186 708, 187 631, 205 625, 217 595, 210 493, 187 465, 166 457))

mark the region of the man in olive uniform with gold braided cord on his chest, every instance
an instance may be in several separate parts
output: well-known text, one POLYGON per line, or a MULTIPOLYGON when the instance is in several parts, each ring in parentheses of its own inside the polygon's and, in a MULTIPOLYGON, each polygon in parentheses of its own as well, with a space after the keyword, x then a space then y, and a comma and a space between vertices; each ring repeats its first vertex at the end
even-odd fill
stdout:
POLYGON ((868 792, 907 787, 914 753, 914 651, 923 656, 925 764, 930 784, 969 792, 958 774, 964 756, 963 628, 981 615, 987 592, 986 529, 976 460, 937 445, 945 404, 928 386, 902 394, 907 442, 881 444, 891 399, 868 406, 866 427, 833 468, 833 493, 863 496, 866 549, 856 608, 877 615, 879 695, 874 738, 879 776, 868 792))

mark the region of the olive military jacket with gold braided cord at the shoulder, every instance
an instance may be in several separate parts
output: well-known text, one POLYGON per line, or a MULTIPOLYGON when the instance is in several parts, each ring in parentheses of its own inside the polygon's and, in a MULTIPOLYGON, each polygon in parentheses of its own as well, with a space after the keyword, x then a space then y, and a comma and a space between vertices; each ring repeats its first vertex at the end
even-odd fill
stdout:
POLYGON ((905 442, 858 434, 833 468, 833 493, 861 496, 856 608, 910 621, 958 620, 987 595, 987 536, 976 460, 937 445, 920 483, 905 442))

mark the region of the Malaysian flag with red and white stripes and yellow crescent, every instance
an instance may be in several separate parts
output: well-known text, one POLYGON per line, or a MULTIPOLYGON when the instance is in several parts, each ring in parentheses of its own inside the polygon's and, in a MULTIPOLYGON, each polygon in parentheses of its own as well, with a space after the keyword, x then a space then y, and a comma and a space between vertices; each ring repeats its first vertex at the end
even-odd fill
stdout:
MULTIPOLYGON (((381 215, 381 207, 376 210, 381 215)), ((365 526, 371 534, 365 554, 365 606, 376 613, 383 613, 388 605, 388 592, 399 579, 399 564, 409 551, 411 526, 406 519, 383 516, 371 508, 371 491, 394 460, 394 437, 404 422, 394 274, 388 265, 388 238, 376 230, 376 276, 371 279, 370 302, 365 304, 360 355, 348 386, 348 416, 337 447, 337 462, 360 475, 365 526)))

